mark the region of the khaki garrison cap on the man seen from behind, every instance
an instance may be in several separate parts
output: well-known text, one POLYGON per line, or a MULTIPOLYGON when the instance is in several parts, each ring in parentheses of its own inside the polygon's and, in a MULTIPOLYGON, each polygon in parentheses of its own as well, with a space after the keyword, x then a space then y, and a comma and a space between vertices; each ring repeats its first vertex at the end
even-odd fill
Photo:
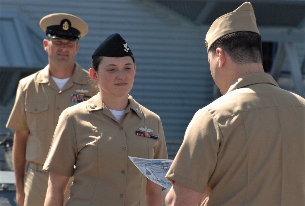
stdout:
POLYGON ((208 52, 217 39, 237 31, 252 31, 260 34, 256 26, 254 10, 250 2, 243 3, 233 12, 219 17, 212 23, 204 40, 208 52))

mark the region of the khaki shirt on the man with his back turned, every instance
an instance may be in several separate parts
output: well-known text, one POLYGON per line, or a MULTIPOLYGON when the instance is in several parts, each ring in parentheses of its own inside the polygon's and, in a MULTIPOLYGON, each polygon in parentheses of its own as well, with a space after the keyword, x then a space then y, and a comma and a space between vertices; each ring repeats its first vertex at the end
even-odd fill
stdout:
POLYGON ((266 73, 239 78, 190 122, 167 178, 202 205, 305 205, 305 100, 266 73))

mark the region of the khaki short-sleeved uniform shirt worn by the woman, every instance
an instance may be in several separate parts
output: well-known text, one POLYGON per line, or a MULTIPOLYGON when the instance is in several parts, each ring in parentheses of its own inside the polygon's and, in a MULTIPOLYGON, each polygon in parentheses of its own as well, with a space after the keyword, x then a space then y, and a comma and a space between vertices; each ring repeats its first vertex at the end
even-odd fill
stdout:
POLYGON ((146 177, 128 156, 167 159, 158 115, 129 96, 117 121, 99 93, 67 108, 58 125, 43 169, 74 176, 66 205, 147 204, 146 177), (158 139, 137 135, 139 127, 151 129, 158 139))

